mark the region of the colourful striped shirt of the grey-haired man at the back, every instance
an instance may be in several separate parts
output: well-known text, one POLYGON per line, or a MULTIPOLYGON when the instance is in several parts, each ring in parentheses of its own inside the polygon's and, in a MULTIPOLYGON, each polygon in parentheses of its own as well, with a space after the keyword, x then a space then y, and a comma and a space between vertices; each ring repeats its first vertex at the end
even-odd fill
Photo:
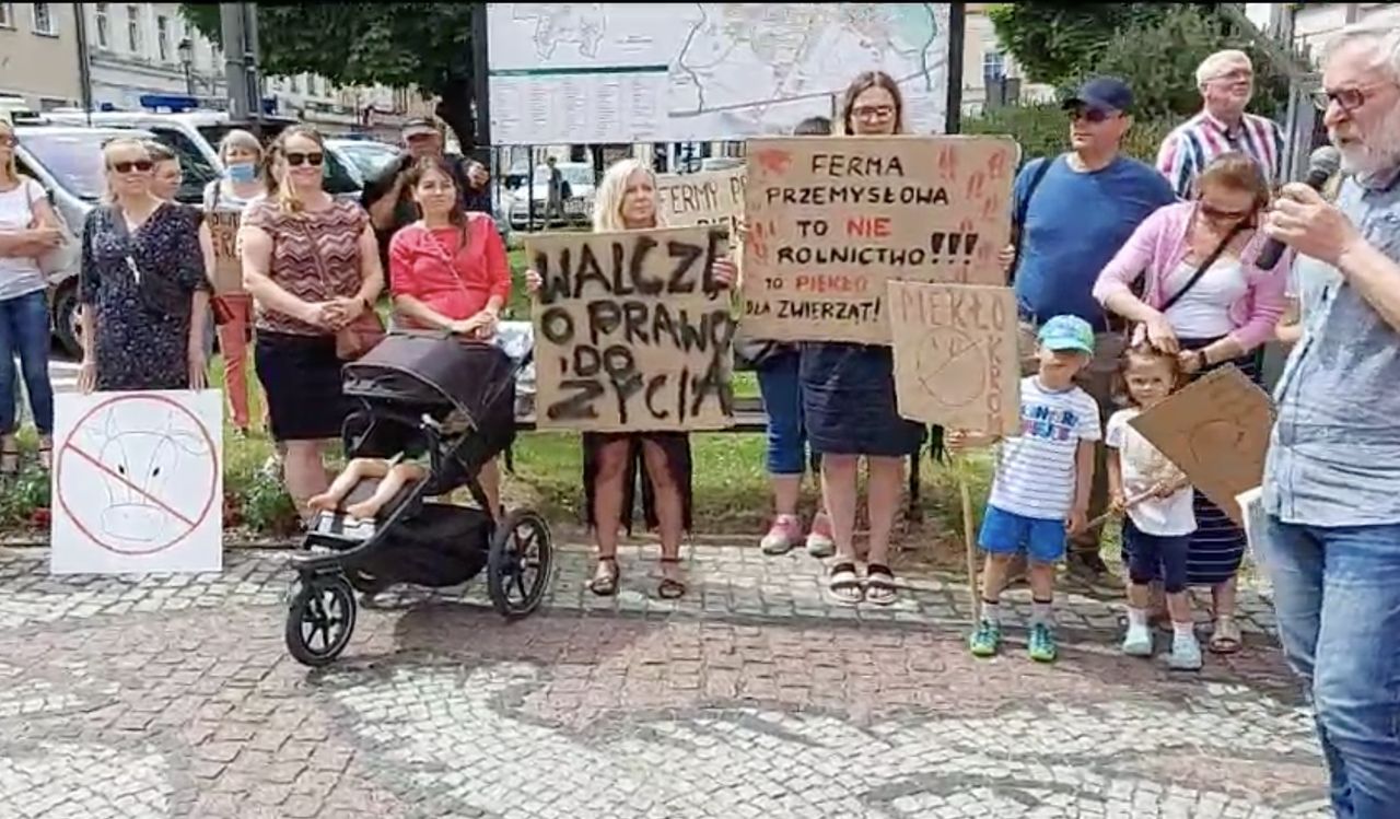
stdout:
POLYGON ((1197 113, 1162 140, 1156 169, 1166 176, 1179 197, 1190 199, 1191 186, 1201 169, 1229 151, 1254 157, 1270 185, 1282 178, 1284 132, 1274 120, 1253 113, 1246 113, 1235 132, 1204 111, 1197 113))

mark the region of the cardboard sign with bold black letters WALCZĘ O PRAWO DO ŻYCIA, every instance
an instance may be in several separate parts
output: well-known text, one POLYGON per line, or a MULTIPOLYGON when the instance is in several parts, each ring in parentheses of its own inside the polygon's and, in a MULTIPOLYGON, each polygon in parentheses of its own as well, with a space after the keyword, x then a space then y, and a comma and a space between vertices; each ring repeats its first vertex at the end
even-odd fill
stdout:
POLYGON ((714 280, 727 228, 542 234, 525 255, 536 423, 594 431, 734 424, 729 291, 714 280))

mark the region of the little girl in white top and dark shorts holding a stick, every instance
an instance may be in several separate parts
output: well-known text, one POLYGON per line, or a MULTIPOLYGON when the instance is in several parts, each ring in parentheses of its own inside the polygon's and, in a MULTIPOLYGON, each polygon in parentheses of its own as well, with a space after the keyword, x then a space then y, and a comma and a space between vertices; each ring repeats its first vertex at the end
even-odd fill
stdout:
POLYGON ((1123 652, 1152 655, 1152 631, 1148 627, 1151 582, 1162 578, 1173 630, 1168 664, 1194 671, 1201 666, 1201 647, 1186 598, 1186 556, 1196 531, 1194 496, 1186 475, 1130 423, 1176 389, 1182 382, 1180 363, 1176 356, 1142 343, 1124 354, 1121 374, 1131 406, 1109 419, 1105 444, 1109 447, 1113 508, 1127 512, 1123 552, 1131 584, 1123 652))

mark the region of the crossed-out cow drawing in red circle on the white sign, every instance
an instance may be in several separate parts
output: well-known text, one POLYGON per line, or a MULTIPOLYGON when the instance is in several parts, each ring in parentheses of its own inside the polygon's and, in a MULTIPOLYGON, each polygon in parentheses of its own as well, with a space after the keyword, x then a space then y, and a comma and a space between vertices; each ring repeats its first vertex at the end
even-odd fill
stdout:
MULTIPOLYGON (((94 533, 113 546, 140 547, 193 528, 216 466, 209 438, 186 413, 111 406, 104 419, 84 424, 80 447, 95 462, 97 491, 105 500, 94 533), (200 500, 197 507, 192 497, 200 500)), ((97 498, 88 508, 99 508, 97 498)))

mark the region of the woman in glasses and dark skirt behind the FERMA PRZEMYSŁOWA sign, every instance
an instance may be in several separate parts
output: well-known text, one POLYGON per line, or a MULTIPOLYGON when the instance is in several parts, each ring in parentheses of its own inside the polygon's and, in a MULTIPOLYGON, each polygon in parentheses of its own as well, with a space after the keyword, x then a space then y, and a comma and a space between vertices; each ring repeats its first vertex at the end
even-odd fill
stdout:
MULTIPOLYGON (((841 133, 889 136, 904 130, 904 102, 883 71, 865 71, 846 90, 841 133)), ((895 360, 872 344, 802 344, 802 416, 812 451, 822 456, 822 494, 832 517, 836 563, 829 588, 841 603, 895 602, 889 536, 904 484, 904 458, 918 451, 924 428, 895 406, 895 360), (869 553, 864 591, 855 574, 855 501, 861 456, 869 469, 869 553)))

